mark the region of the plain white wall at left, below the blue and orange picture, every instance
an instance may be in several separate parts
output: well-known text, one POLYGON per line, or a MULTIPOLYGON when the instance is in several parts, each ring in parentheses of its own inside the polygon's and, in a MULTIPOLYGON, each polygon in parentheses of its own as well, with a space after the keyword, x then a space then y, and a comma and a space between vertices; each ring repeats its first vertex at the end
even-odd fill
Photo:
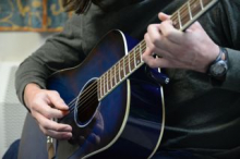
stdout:
POLYGON ((26 110, 14 90, 20 62, 40 47, 51 34, 0 32, 0 158, 20 138, 26 110))

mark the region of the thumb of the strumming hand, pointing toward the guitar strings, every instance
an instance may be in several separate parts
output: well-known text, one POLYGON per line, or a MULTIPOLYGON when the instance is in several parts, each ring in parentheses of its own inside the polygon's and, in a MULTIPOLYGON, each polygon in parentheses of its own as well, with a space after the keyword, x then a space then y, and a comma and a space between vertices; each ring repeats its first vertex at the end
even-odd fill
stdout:
POLYGON ((55 108, 63 111, 69 110, 69 107, 65 105, 58 91, 49 91, 48 98, 50 99, 50 102, 53 105, 55 108))

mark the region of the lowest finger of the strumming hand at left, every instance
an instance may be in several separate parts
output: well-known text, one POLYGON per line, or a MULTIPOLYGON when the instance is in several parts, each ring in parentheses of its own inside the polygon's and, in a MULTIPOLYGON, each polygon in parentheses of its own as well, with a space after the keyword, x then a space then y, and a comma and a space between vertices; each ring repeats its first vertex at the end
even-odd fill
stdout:
POLYGON ((43 127, 41 125, 39 125, 41 132, 46 135, 46 136, 50 136, 52 138, 57 138, 57 139, 70 139, 72 137, 72 133, 71 132, 56 132, 52 130, 46 130, 45 127, 43 127))

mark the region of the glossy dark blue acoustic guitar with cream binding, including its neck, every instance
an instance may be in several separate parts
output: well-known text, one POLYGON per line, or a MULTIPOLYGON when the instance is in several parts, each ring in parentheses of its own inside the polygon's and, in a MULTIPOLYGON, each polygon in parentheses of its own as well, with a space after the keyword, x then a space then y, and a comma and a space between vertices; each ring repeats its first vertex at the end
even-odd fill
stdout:
MULTIPOLYGON (((217 2, 189 0, 170 19, 184 32, 217 2)), ((161 85, 169 78, 144 64, 145 49, 144 40, 136 44, 120 30, 111 30, 80 65, 48 78, 47 88, 57 90, 70 108, 57 122, 73 129, 71 139, 53 142, 55 158, 153 157, 165 125, 161 85)))

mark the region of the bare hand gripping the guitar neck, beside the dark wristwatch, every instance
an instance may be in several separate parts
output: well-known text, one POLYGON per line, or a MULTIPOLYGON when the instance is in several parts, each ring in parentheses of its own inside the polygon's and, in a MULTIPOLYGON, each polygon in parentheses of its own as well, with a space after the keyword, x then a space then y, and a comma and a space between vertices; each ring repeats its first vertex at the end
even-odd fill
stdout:
POLYGON ((219 47, 209 38, 199 22, 185 32, 173 27, 169 15, 159 13, 160 24, 152 24, 144 36, 146 51, 143 60, 152 68, 187 69, 206 72, 216 59, 219 47), (154 58, 156 54, 160 58, 154 58))

